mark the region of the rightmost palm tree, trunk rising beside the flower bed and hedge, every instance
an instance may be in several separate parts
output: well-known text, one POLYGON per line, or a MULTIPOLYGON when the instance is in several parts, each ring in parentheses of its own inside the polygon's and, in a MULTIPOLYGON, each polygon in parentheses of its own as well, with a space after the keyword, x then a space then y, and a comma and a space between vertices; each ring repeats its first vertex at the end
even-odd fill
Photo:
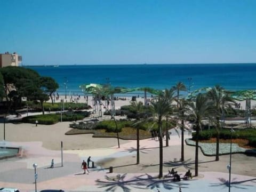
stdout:
POLYGON ((214 86, 210 91, 208 91, 207 96, 212 100, 215 109, 215 129, 217 132, 215 161, 219 161, 220 118, 225 112, 226 107, 229 106, 231 102, 235 101, 231 98, 230 92, 226 91, 219 85, 214 86))

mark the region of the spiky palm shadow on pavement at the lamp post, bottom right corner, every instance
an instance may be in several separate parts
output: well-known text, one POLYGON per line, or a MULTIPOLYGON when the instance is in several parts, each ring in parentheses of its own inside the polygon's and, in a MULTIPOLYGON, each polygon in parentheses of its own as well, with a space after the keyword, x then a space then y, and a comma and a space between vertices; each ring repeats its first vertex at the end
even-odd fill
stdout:
MULTIPOLYGON (((256 180, 256 179, 251 179, 251 180, 244 180, 244 181, 236 181, 237 178, 234 178, 232 179, 232 181, 230 182, 230 187, 235 187, 237 189, 248 189, 248 187, 254 187, 253 185, 245 185, 245 184, 242 184, 244 182, 248 182, 248 181, 252 181, 253 180, 256 180)), ((229 187, 229 180, 226 180, 224 178, 218 178, 218 180, 220 182, 218 183, 211 183, 210 184, 210 187, 221 187, 222 188, 226 188, 226 187, 229 187)))

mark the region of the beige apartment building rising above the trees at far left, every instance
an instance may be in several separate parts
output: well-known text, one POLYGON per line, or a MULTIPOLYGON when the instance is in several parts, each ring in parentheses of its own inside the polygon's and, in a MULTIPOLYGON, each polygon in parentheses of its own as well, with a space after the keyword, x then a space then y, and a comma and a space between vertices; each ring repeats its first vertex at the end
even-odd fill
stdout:
POLYGON ((0 53, 0 67, 6 66, 19 66, 22 61, 22 56, 19 56, 16 52, 14 53, 0 53))

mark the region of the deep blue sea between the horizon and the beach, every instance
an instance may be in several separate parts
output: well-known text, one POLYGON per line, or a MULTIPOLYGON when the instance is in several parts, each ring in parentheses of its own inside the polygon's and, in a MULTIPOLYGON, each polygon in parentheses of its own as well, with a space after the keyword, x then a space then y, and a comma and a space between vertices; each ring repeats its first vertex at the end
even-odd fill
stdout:
MULTIPOLYGON (((256 90, 256 63, 220 64, 142 64, 142 65, 59 65, 23 66, 41 76, 52 77, 59 84, 60 95, 83 95, 80 85, 98 83, 126 88, 170 89, 178 82, 187 91, 221 85, 224 89, 256 90)), ((130 92, 123 96, 143 95, 130 92)))

